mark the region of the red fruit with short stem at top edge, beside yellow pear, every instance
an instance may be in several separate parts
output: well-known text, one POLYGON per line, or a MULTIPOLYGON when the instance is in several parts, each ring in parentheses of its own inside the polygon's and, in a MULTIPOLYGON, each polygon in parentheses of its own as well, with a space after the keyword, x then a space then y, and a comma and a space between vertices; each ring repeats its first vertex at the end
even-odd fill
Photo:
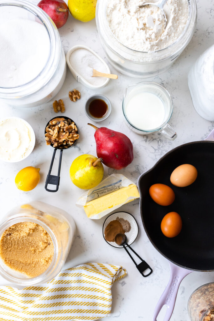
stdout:
POLYGON ((38 7, 44 10, 59 29, 68 19, 68 6, 63 0, 41 0, 38 7))

